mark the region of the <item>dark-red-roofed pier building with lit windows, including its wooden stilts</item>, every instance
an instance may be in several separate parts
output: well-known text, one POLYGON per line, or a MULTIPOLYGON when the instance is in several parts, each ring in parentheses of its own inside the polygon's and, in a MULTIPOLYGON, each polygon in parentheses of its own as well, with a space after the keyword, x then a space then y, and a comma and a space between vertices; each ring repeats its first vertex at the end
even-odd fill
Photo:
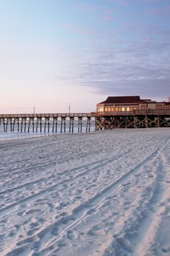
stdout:
POLYGON ((170 102, 140 96, 108 97, 97 104, 95 129, 170 127, 170 102))

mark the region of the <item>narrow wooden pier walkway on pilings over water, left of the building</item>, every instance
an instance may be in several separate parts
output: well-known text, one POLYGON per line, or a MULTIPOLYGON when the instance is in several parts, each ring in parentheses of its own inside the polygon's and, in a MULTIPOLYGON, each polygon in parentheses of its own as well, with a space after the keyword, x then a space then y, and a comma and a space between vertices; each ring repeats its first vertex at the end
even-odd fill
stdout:
POLYGON ((89 113, 73 114, 0 114, 0 129, 3 132, 90 132, 89 113))

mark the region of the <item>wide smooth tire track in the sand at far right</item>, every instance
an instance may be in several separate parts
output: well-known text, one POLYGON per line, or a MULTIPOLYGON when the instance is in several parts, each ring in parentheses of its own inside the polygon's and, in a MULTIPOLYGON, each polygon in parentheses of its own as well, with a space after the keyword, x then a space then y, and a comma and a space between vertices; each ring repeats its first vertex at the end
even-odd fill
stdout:
MULTIPOLYGON (((159 154, 159 158, 161 165, 160 169, 162 171, 161 173, 158 173, 158 181, 162 179, 162 175, 164 174, 164 182, 166 182, 166 179, 169 180, 170 178, 170 174, 166 166, 166 163, 168 163, 168 161, 163 153, 159 154)), ((156 183, 153 196, 148 203, 149 208, 151 209, 151 211, 149 212, 150 214, 146 216, 143 221, 143 226, 145 227, 145 229, 143 230, 143 227, 140 227, 139 233, 137 234, 137 236, 140 237, 140 242, 135 247, 135 252, 133 252, 133 255, 143 256, 148 253, 148 250, 150 249, 153 241, 153 236, 156 234, 158 226, 162 221, 162 218, 160 218, 160 216, 164 215, 166 212, 166 209, 164 208, 164 202, 167 200, 167 197, 170 193, 170 188, 168 186, 166 187, 165 183, 162 184, 158 181, 156 183), (152 208, 154 210, 152 210, 152 208)), ((166 248, 164 247, 160 248, 160 250, 161 252, 166 252, 166 248)), ((153 252, 149 253, 150 255, 152 255, 153 252)))

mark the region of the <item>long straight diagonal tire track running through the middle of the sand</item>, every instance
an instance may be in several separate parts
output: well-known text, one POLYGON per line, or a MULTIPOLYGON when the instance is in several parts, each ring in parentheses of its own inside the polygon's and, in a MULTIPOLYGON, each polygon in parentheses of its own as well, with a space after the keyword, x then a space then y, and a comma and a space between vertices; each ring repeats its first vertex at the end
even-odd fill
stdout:
POLYGON ((43 255, 45 253, 51 252, 52 247, 57 249, 57 243, 63 238, 63 236, 67 234, 70 229, 74 229, 79 225, 79 223, 81 223, 81 221, 86 220, 86 218, 89 218, 94 213, 96 213, 97 209, 104 203, 106 198, 117 193, 122 188, 122 184, 132 180, 135 174, 138 174, 140 171, 142 171, 141 167, 144 164, 153 161, 153 159, 157 157, 158 151, 159 150, 157 148, 153 151, 153 153, 151 153, 151 155, 148 155, 144 161, 138 163, 138 165, 135 166, 135 168, 132 168, 127 174, 121 176, 120 179, 117 179, 115 182, 109 184, 109 186, 102 189, 101 192, 99 192, 94 197, 91 197, 91 199, 84 202, 84 204, 79 205, 79 207, 73 210, 71 215, 63 216, 63 218, 61 218, 59 221, 51 223, 49 226, 46 226, 45 229, 40 230, 33 236, 19 241, 17 244, 19 248, 23 247, 24 244, 27 244, 27 242, 30 241, 36 243, 38 239, 42 239, 43 236, 48 234, 48 237, 51 236, 51 239, 49 239, 48 243, 43 244, 42 249, 37 253, 35 252, 34 255, 40 255, 40 253, 43 255), (55 232, 53 232, 54 229, 55 232), (61 231, 59 231, 60 229, 61 231), (53 233, 55 233, 55 237, 53 233))

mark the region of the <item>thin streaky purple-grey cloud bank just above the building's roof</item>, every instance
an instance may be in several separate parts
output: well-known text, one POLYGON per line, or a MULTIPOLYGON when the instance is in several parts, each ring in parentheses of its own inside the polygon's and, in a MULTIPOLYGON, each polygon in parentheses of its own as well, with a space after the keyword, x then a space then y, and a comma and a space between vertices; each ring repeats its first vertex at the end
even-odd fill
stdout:
POLYGON ((156 100, 170 95, 170 47, 168 42, 143 40, 124 46, 81 52, 79 64, 67 77, 77 85, 96 88, 107 95, 141 95, 156 100))

